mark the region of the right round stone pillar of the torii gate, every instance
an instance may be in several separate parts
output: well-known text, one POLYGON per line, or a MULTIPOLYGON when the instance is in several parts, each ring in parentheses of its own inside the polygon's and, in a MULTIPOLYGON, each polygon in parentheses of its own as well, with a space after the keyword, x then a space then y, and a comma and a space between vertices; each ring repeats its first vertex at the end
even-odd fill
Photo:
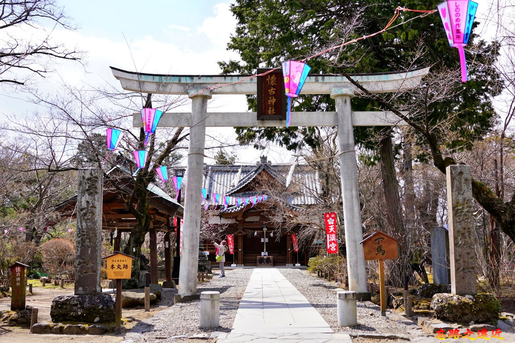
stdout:
POLYGON ((338 114, 341 198, 344 205, 349 290, 356 292, 357 300, 370 300, 370 293, 367 293, 365 259, 363 249, 359 245, 359 242, 363 240, 363 228, 361 209, 359 208, 356 152, 352 125, 351 97, 353 96, 354 91, 350 88, 335 88, 331 92, 331 98, 335 100, 338 114))

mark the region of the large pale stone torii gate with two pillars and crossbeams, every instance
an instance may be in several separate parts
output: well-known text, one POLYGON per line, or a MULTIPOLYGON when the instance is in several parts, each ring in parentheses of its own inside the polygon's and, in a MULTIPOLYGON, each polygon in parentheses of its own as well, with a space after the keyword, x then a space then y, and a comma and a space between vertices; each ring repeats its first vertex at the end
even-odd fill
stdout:
MULTIPOLYGON (((187 94, 192 99, 191 113, 164 113, 159 126, 190 127, 186 195, 184 197, 184 233, 179 272, 179 296, 190 297, 197 291, 198 243, 200 238, 201 187, 204 159, 205 127, 266 127, 286 126, 286 121, 261 121, 255 112, 208 113, 212 94, 256 94, 256 78, 246 75, 160 75, 127 72, 111 67, 112 73, 126 91, 154 94, 187 94), (224 84, 224 87, 219 85, 224 84)), ((429 71, 392 74, 353 75, 372 93, 402 92, 416 87, 429 71)), ((345 220, 345 242, 349 290, 359 300, 370 298, 363 249, 361 208, 359 207, 356 153, 353 126, 392 126, 405 124, 389 112, 353 112, 351 97, 355 87, 343 76, 308 76, 301 94, 330 94, 336 102, 336 112, 292 112, 290 126, 337 126, 340 150, 340 176, 345 220)), ((141 127, 141 116, 133 116, 133 125, 141 127)))

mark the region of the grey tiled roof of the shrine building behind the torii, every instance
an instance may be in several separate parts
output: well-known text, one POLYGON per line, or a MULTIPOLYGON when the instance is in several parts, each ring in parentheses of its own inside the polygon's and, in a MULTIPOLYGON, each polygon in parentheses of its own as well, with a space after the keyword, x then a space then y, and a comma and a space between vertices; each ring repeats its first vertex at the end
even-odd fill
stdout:
MULTIPOLYGON (((238 192, 250 184, 252 180, 261 174, 268 173, 280 184, 286 187, 286 177, 291 165, 279 165, 263 163, 251 166, 238 165, 211 165, 204 166, 204 177, 202 188, 207 188, 208 203, 214 205, 213 193, 218 193, 220 197, 230 196, 229 208, 225 212, 236 212, 241 210, 244 205, 236 205, 236 197, 250 197, 264 194, 260 190, 246 190, 238 192), (238 170, 241 173, 238 179, 238 170)), ((320 182, 318 173, 307 165, 296 165, 291 184, 286 188, 287 201, 293 207, 310 205, 317 203, 315 194, 320 193, 320 182)), ((221 203, 221 199, 219 203, 221 203)))

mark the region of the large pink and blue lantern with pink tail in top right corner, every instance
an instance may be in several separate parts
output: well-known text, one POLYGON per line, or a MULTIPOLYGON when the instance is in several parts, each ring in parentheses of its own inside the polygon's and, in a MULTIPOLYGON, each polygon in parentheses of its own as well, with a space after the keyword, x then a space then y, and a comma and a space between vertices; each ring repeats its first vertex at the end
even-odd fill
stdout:
POLYGON ((469 42, 477 3, 470 0, 447 0, 438 6, 449 45, 458 48, 461 82, 467 81, 467 63, 464 47, 469 42))

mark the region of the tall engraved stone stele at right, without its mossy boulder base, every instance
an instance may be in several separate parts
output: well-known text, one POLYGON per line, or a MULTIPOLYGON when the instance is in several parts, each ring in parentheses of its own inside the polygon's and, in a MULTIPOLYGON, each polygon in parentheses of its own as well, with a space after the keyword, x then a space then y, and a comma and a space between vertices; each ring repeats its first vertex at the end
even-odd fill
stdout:
POLYGON ((477 294, 470 165, 450 165, 447 174, 451 293, 477 294))

